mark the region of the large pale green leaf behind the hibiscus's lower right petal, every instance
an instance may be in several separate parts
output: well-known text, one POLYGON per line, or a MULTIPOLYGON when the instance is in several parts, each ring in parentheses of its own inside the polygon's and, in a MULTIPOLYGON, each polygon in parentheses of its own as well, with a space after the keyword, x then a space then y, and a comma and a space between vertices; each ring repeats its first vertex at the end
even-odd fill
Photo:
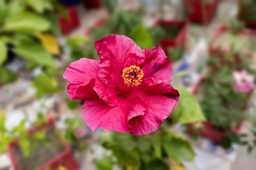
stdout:
POLYGON ((180 93, 180 98, 171 114, 171 118, 173 117, 175 121, 181 124, 205 120, 200 104, 195 96, 189 93, 185 88, 176 87, 176 89, 180 93))

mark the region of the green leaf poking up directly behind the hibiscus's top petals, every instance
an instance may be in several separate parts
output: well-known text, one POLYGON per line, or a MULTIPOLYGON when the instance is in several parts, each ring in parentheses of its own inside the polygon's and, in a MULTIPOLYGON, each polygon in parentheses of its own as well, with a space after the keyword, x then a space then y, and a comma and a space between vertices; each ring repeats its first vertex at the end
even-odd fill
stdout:
POLYGON ((152 49, 153 42, 147 30, 140 24, 129 36, 141 49, 152 49))

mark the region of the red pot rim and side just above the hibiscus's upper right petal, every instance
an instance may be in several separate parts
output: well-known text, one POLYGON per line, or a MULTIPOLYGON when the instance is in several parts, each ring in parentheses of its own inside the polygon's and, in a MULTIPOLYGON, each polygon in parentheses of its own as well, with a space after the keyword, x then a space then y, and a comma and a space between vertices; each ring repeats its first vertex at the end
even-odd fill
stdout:
POLYGON ((186 44, 186 36, 188 32, 188 22, 186 21, 175 21, 175 20, 167 20, 162 21, 158 20, 155 23, 155 26, 165 26, 165 27, 172 27, 172 26, 179 26, 180 31, 177 33, 176 37, 174 38, 159 38, 159 42, 161 44, 161 47, 164 49, 165 54, 168 56, 168 49, 174 48, 178 49, 181 47, 184 47, 186 44))

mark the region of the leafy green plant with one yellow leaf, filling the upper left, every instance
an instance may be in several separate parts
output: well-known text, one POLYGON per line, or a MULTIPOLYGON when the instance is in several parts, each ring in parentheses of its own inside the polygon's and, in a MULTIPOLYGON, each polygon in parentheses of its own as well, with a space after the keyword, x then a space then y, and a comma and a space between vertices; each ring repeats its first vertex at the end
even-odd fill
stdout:
MULTIPOLYGON (((47 83, 50 88, 45 88, 44 93, 58 91, 54 77, 58 72, 54 56, 61 52, 53 35, 60 33, 60 30, 53 9, 54 4, 50 1, 45 1, 43 5, 35 1, 0 2, 0 72, 3 75, 0 78, 1 83, 13 82, 22 76, 19 75, 19 70, 13 73, 7 67, 15 55, 25 61, 26 73, 38 67, 42 71, 42 74, 38 75, 40 78, 46 77, 48 82, 54 82, 47 83)), ((34 77, 36 75, 32 74, 29 78, 34 77)), ((34 79, 35 83, 38 79, 34 79)))

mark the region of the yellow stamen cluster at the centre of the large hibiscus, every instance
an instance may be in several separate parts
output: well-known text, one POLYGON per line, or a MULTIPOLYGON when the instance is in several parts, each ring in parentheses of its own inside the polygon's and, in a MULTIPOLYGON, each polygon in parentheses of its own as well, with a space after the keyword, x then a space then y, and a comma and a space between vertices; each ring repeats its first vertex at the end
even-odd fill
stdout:
POLYGON ((124 84, 129 86, 139 86, 142 82, 144 73, 138 66, 126 67, 123 70, 122 77, 124 78, 124 84))

